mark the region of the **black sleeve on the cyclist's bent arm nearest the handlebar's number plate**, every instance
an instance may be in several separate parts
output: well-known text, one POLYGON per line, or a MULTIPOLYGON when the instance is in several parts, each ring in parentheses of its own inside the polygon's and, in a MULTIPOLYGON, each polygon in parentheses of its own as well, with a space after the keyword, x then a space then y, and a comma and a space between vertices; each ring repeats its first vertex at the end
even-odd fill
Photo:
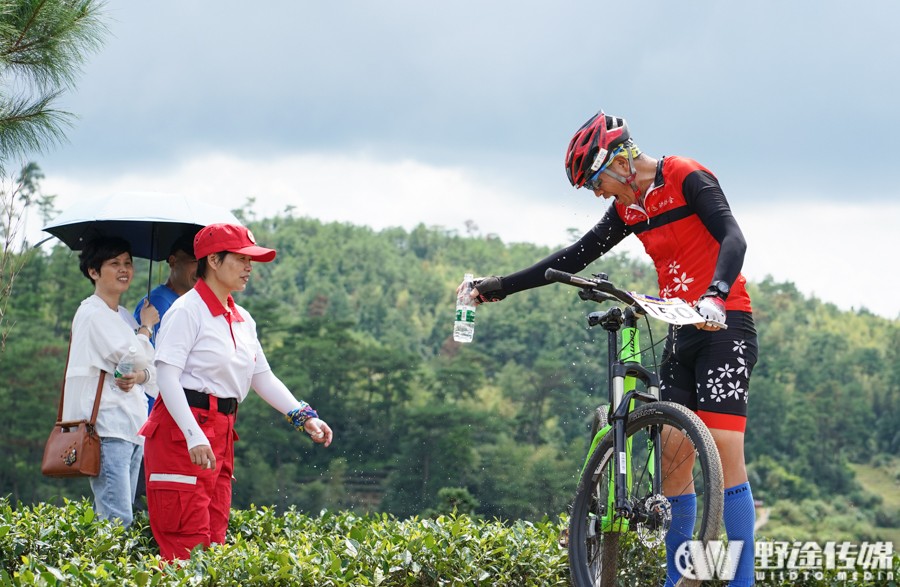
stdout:
POLYGON ((706 171, 694 171, 681 186, 688 207, 719 243, 719 256, 713 281, 731 285, 744 265, 747 241, 731 213, 719 182, 706 171))

